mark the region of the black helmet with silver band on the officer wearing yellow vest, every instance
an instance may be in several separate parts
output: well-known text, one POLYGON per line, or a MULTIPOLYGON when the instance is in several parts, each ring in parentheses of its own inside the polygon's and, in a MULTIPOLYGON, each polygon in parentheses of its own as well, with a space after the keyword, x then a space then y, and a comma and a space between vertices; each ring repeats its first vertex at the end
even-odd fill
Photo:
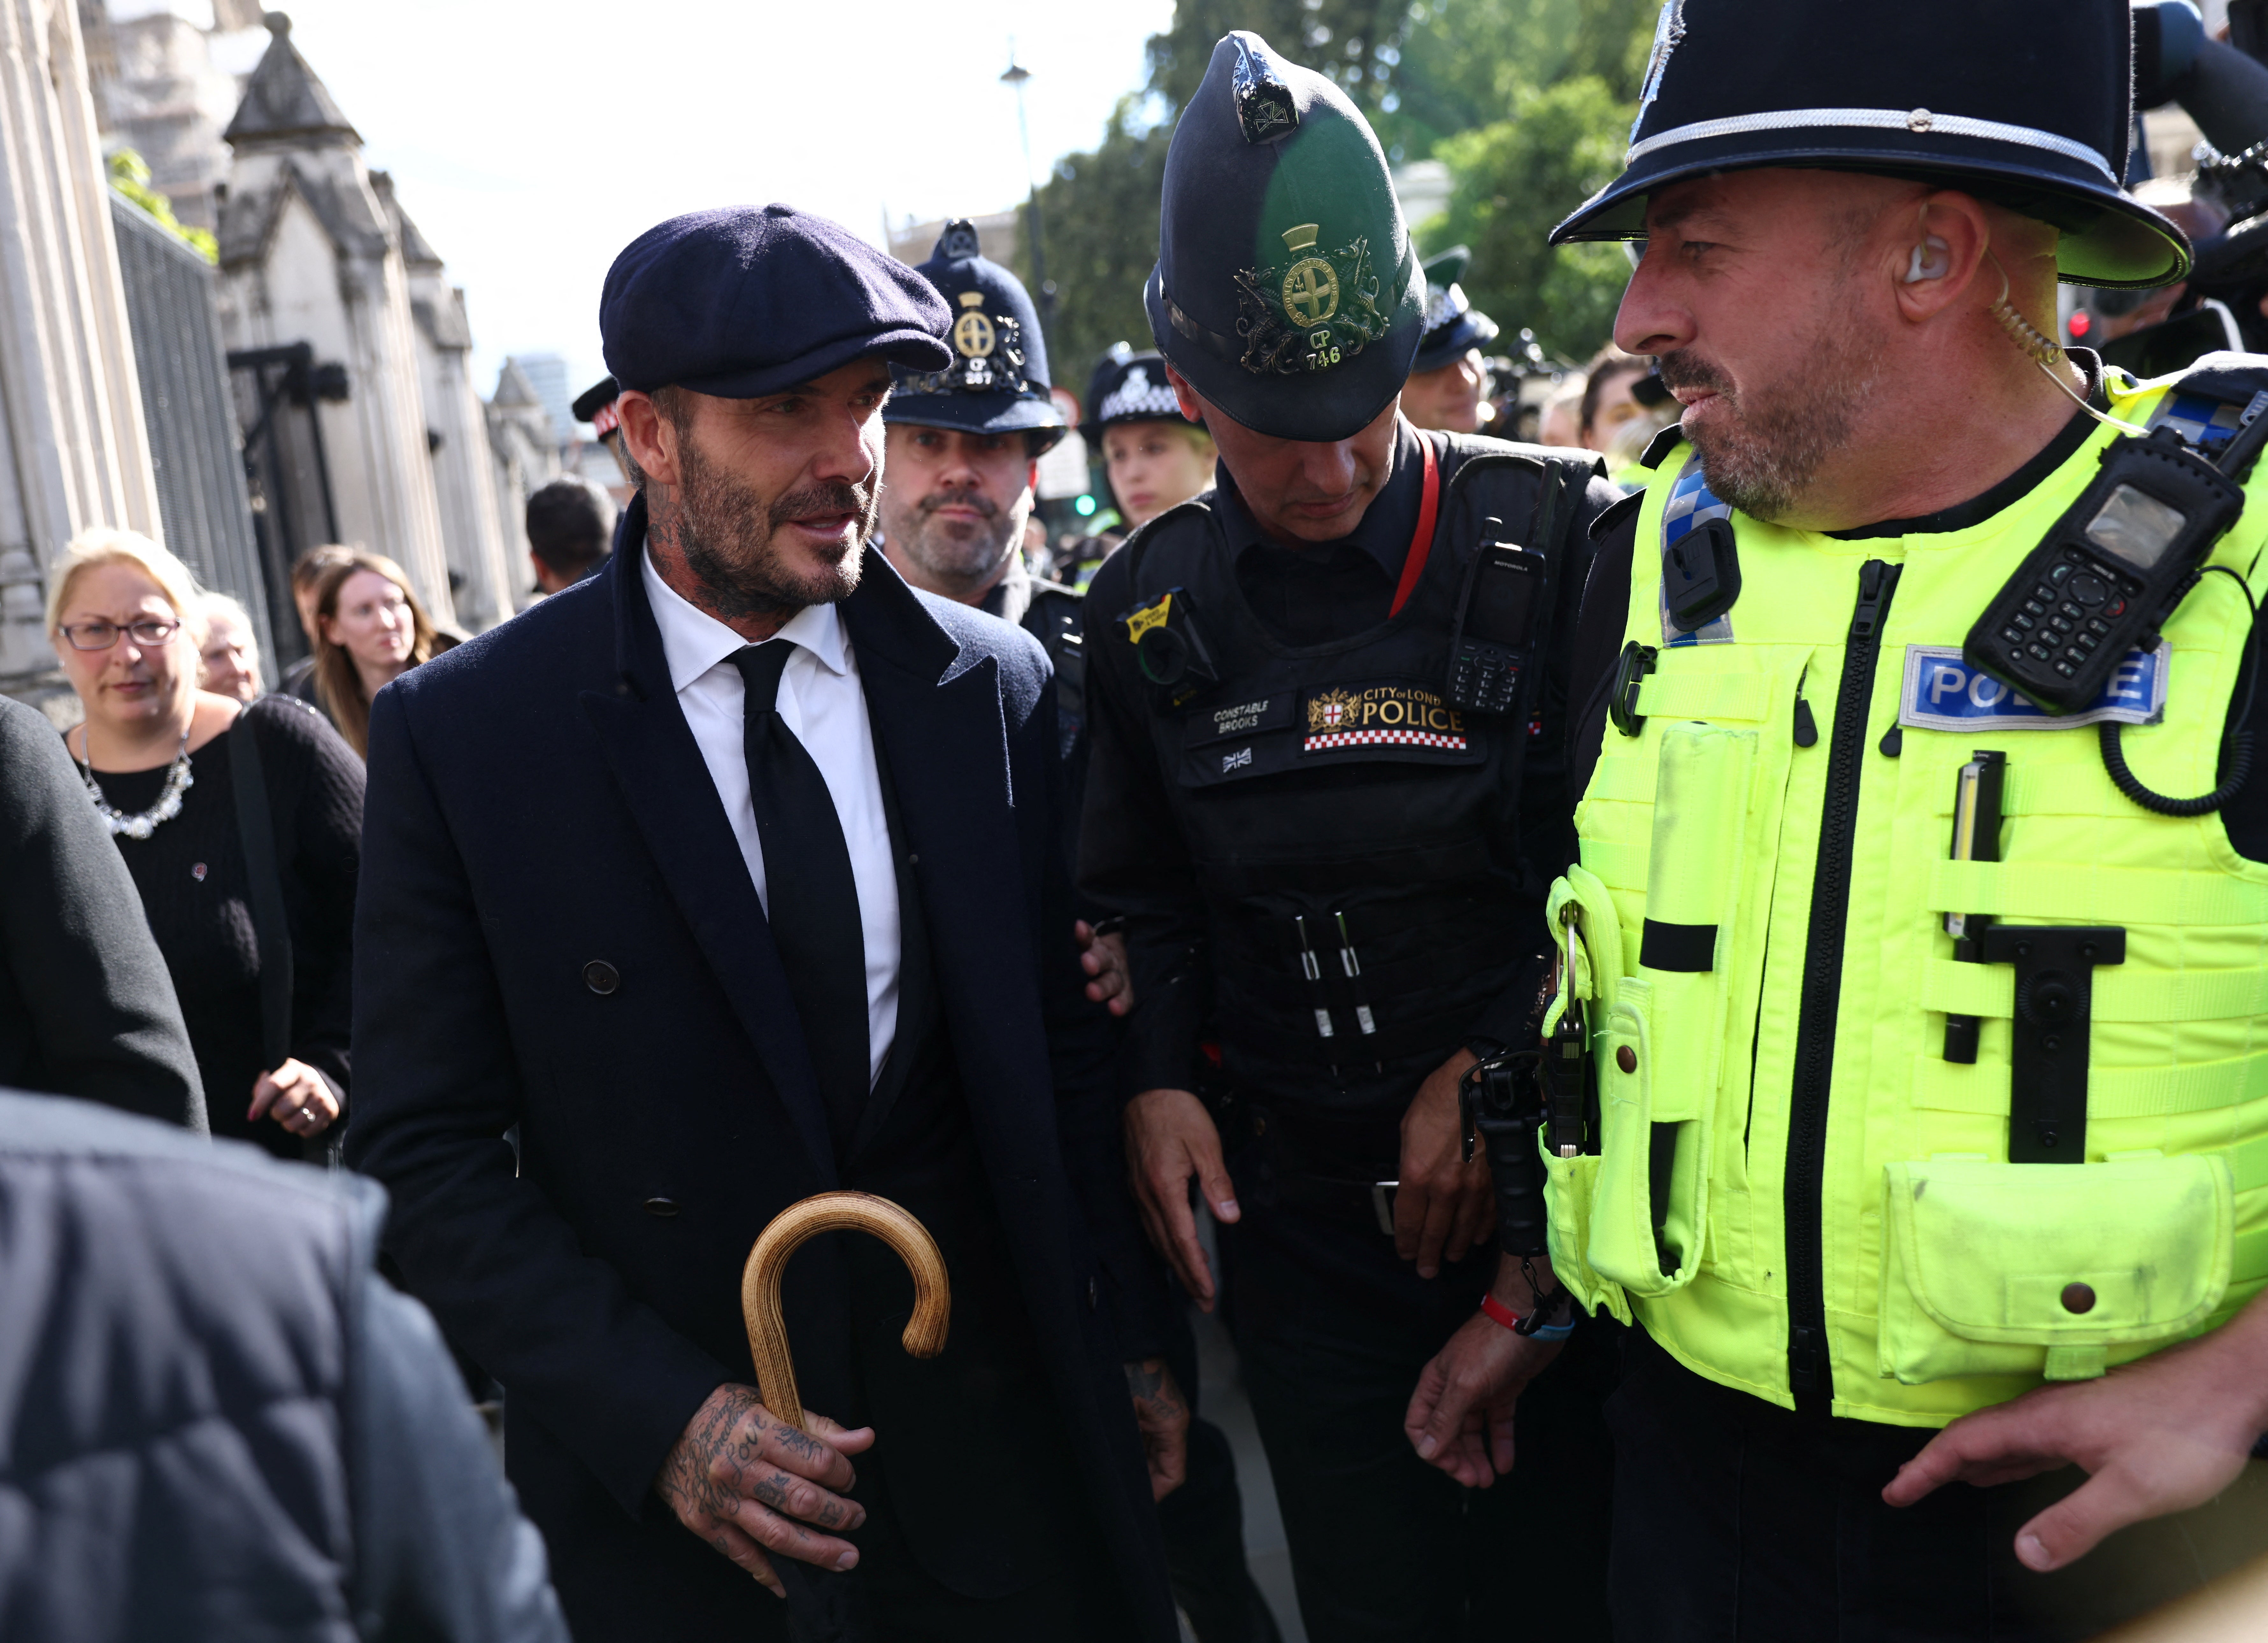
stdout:
POLYGON ((2118 191, 2127 0, 1667 0, 1624 172, 1551 231, 1644 238, 1647 193, 1712 170, 1919 177, 2062 229, 2075 286, 2164 286, 2189 241, 2118 191))

